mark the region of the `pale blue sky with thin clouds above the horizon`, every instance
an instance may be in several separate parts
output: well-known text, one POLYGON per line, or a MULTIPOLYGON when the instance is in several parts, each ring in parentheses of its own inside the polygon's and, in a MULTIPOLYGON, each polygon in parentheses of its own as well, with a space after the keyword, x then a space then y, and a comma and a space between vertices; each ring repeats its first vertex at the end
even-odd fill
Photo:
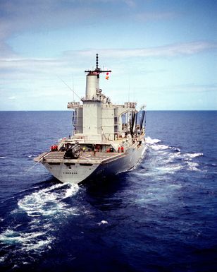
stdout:
POLYGON ((0 110, 66 110, 97 53, 114 103, 217 110, 216 0, 0 0, 0 110))

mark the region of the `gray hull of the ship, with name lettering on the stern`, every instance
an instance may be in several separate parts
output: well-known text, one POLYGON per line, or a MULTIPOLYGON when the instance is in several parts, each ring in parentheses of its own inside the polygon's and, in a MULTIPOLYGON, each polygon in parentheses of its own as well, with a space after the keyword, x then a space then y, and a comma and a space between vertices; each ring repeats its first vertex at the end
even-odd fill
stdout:
POLYGON ((143 158, 145 150, 145 142, 142 142, 133 144, 125 153, 83 153, 77 160, 67 160, 61 152, 50 152, 36 161, 42 162, 59 181, 81 184, 132 169, 143 158))

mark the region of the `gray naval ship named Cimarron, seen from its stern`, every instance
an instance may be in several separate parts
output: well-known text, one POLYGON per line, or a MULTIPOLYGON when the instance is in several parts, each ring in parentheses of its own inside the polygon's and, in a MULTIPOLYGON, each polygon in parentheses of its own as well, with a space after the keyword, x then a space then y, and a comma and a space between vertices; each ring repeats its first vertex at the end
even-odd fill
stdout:
POLYGON ((136 102, 116 105, 99 88, 101 73, 106 79, 111 70, 85 71, 85 97, 68 102, 72 110, 73 133, 61 138, 35 158, 60 182, 82 184, 132 170, 144 158, 146 108, 136 110, 136 102))

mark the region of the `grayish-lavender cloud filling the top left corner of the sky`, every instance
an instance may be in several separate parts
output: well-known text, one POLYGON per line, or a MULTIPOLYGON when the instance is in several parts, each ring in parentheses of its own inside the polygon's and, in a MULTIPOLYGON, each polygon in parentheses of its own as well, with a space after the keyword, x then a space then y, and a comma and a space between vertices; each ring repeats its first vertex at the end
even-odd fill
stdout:
POLYGON ((61 29, 75 29, 109 25, 116 22, 130 22, 140 18, 152 20, 167 18, 171 13, 139 13, 146 1, 135 0, 11 0, 0 1, 0 55, 16 56, 16 47, 8 45, 11 37, 27 32, 51 32, 61 29))

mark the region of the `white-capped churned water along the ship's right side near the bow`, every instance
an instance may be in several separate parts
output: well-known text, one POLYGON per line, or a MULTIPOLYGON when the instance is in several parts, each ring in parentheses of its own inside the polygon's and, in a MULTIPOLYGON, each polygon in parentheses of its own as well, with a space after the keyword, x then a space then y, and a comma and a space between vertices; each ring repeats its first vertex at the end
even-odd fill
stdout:
POLYGON ((134 196, 137 203, 170 202, 185 188, 186 180, 206 174, 202 164, 203 153, 183 153, 180 148, 168 146, 159 139, 146 138, 147 155, 136 171, 132 171, 133 186, 145 186, 134 196))

